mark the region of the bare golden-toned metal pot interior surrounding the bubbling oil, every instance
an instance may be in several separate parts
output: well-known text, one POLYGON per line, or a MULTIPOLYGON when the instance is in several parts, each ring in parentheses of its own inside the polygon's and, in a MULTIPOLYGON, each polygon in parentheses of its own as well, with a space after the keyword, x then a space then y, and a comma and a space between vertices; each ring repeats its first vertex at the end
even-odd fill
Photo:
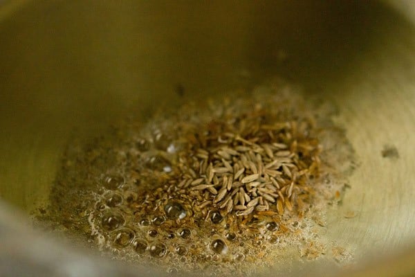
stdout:
MULTIPOLYGON (((415 27, 390 6, 5 1, 0 42, 1 202, 36 211, 47 203, 68 137, 96 136, 131 113, 146 116, 162 99, 174 105, 178 85, 186 99, 203 98, 280 75, 338 105, 356 149, 359 166, 329 214, 328 238, 355 249, 353 269, 408 247, 391 265, 414 256, 415 27), (385 145, 399 158, 382 157, 385 145), (357 216, 344 218, 349 211, 357 216)), ((5 261, 21 257, 11 253, 25 249, 25 238, 38 239, 11 213, 1 208, 0 272, 12 272, 5 261)), ((42 243, 59 253, 59 244, 42 243)), ((410 264, 376 274, 413 274, 410 264)), ((298 269, 327 275, 332 267, 322 259, 298 269)))

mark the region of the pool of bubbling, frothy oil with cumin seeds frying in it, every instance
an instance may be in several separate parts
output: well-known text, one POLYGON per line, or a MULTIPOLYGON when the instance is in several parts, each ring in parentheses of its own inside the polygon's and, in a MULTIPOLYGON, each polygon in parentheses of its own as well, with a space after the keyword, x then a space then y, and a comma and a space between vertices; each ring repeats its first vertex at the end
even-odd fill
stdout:
POLYGON ((319 258, 319 228, 353 167, 332 116, 273 82, 127 120, 68 145, 46 221, 169 272, 250 275, 293 253, 319 258))

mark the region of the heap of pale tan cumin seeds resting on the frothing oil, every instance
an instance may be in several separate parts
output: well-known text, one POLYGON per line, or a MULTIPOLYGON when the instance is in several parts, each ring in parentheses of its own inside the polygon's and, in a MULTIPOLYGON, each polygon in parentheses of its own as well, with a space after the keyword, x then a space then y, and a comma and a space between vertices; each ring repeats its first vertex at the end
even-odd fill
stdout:
MULTIPOLYGON (((199 178, 189 178, 193 172, 188 170, 178 188, 200 190, 205 198, 201 207, 219 208, 225 214, 250 215, 269 211, 270 206, 276 206, 279 215, 284 214, 284 208, 293 211, 293 204, 310 190, 309 175, 318 174, 320 152, 317 141, 293 136, 293 125, 296 122, 259 125, 266 132, 252 134, 249 141, 229 132, 223 134, 226 139, 218 141, 218 146, 208 141, 215 147, 210 151, 199 148, 192 159, 199 163, 199 178)), ((304 134, 304 130, 299 132, 304 134)))

